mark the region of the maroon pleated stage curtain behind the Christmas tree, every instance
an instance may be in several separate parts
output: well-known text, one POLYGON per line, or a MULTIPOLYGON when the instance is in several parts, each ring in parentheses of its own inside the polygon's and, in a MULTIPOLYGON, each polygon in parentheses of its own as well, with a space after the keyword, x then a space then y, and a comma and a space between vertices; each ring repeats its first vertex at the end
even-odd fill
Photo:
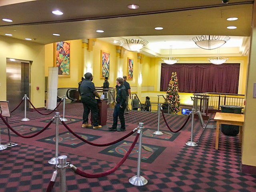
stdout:
POLYGON ((240 64, 162 63, 160 91, 166 91, 172 72, 177 72, 179 92, 238 93, 240 64))

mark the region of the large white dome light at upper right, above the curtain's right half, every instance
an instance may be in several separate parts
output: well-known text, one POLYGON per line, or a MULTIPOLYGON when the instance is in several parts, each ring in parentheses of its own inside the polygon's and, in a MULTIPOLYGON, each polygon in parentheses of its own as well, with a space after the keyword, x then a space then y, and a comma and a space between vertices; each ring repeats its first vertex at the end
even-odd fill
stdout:
POLYGON ((230 39, 229 36, 200 35, 192 38, 195 44, 202 49, 216 49, 224 45, 230 39))

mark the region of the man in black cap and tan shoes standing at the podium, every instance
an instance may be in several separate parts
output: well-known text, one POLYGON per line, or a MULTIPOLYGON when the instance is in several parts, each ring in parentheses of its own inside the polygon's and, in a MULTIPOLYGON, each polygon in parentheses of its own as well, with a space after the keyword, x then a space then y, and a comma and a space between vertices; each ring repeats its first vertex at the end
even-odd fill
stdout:
POLYGON ((95 89, 94 83, 92 82, 93 76, 91 73, 84 74, 84 80, 80 86, 81 100, 84 105, 83 113, 83 124, 82 127, 90 127, 93 125, 94 129, 101 128, 102 126, 98 123, 98 103, 95 96, 100 98, 98 92, 95 89), (91 111, 92 125, 88 124, 88 115, 91 111))

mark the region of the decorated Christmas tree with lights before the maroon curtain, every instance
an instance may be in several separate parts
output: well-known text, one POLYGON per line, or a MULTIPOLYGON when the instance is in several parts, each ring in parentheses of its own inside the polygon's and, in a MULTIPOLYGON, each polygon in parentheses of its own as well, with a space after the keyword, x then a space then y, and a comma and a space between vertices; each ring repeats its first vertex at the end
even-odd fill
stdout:
POLYGON ((166 98, 170 102, 172 110, 177 113, 180 111, 180 96, 178 87, 178 78, 176 72, 172 72, 172 77, 166 91, 166 98))

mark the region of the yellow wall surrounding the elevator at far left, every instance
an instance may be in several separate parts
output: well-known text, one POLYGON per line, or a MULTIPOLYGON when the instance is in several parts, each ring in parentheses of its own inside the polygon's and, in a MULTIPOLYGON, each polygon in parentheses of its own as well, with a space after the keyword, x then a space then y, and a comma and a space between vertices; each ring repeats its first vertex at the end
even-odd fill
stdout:
POLYGON ((30 100, 36 108, 44 107, 44 45, 0 36, 0 47, 0 100, 6 100, 6 58, 28 60, 32 61, 30 100))

